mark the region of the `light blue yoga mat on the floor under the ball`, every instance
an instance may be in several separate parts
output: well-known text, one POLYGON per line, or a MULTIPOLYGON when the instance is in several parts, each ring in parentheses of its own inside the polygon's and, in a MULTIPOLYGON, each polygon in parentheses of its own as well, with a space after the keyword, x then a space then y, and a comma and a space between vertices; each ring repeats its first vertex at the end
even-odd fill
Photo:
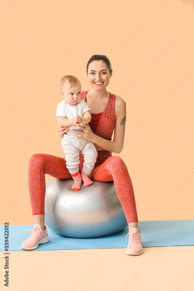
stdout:
MULTIPOLYGON (((21 244, 33 229, 33 225, 9 226, 9 251, 24 251, 21 244)), ((152 246, 192 246, 194 244, 194 220, 139 221, 138 227, 143 247, 152 246)), ((128 228, 105 237, 72 238, 63 237, 47 229, 50 241, 40 244, 36 250, 67 250, 67 249, 118 249, 127 248, 129 239, 128 228)), ((4 225, 0 226, 0 251, 4 249, 4 225)))

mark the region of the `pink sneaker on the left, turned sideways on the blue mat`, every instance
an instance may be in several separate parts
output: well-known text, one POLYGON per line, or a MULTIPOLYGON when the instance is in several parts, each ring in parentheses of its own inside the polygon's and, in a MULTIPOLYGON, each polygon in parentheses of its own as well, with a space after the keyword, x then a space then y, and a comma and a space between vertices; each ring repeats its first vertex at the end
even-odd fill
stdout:
POLYGON ((28 231, 32 230, 31 235, 27 238, 21 245, 21 249, 24 250, 34 250, 38 248, 39 244, 45 244, 49 242, 49 237, 47 233, 47 227, 42 230, 40 224, 35 223, 33 229, 26 229, 28 231))

